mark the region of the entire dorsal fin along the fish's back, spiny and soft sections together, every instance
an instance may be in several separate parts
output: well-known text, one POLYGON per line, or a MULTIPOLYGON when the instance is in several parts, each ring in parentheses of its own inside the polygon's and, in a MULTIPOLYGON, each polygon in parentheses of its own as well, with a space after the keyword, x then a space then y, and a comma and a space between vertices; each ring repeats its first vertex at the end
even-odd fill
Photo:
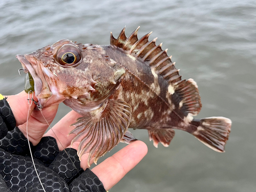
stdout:
POLYGON ((182 80, 179 75, 179 70, 175 68, 175 62, 172 62, 172 56, 167 55, 167 49, 162 50, 162 44, 156 45, 156 39, 148 41, 150 33, 147 33, 140 39, 137 37, 139 27, 129 36, 125 36, 125 27, 114 38, 111 33, 110 45, 121 48, 127 54, 137 57, 142 62, 146 63, 156 74, 167 80, 169 87, 168 92, 172 95, 183 115, 187 116, 190 113, 192 116, 197 115, 202 107, 197 84, 193 79, 182 80))

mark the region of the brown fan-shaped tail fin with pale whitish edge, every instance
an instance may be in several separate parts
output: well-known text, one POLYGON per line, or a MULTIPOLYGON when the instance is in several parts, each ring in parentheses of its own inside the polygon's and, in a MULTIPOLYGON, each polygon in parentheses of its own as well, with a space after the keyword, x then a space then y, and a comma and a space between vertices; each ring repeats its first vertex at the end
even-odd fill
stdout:
POLYGON ((208 117, 193 120, 191 124, 197 126, 197 130, 192 134, 199 141, 216 152, 224 152, 224 146, 230 133, 230 119, 225 117, 208 117))

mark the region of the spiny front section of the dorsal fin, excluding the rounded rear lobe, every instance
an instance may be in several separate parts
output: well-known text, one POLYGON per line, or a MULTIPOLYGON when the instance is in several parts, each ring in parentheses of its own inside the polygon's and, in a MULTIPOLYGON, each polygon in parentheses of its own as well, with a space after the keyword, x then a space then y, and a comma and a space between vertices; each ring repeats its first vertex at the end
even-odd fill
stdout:
POLYGON ((110 45, 116 46, 129 54, 139 58, 156 71, 156 74, 162 75, 173 86, 181 81, 179 71, 175 68, 171 57, 167 56, 167 49, 162 50, 162 44, 156 46, 156 39, 148 41, 150 33, 147 33, 140 39, 137 37, 139 27, 127 38, 125 36, 125 27, 117 37, 117 39, 111 33, 110 45))

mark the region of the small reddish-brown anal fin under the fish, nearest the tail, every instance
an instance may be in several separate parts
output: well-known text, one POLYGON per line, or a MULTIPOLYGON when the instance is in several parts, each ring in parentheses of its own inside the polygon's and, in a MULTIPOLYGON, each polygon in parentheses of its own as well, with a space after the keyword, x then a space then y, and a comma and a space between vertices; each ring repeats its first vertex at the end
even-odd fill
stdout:
POLYGON ((170 128, 156 128, 156 129, 148 129, 148 137, 150 141, 153 140, 154 146, 157 148, 158 143, 162 143, 163 146, 167 147, 172 141, 175 132, 170 128))

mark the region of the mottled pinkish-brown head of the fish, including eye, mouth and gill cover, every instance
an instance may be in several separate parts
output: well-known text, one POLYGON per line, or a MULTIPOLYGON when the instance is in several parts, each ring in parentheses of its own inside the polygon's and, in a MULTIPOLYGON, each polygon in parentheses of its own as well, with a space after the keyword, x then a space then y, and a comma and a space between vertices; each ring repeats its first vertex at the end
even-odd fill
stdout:
POLYGON ((104 59, 101 46, 77 44, 68 39, 16 57, 24 72, 30 72, 34 80, 40 108, 67 99, 88 106, 98 100, 96 108, 99 108, 100 100, 113 92, 124 74, 116 63, 104 59))

